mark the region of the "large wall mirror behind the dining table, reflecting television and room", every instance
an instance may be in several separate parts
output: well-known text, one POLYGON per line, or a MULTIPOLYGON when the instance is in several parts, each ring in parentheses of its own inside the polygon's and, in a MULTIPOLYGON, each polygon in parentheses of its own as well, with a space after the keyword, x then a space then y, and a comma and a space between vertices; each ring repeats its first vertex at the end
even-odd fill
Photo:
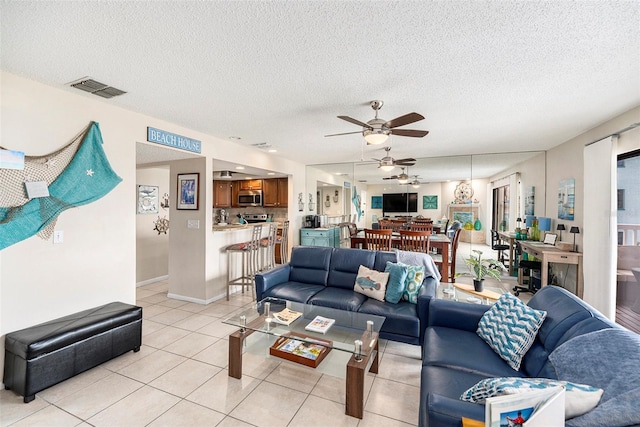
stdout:
POLYGON ((465 228, 458 250, 470 253, 473 243, 490 244, 492 228, 514 230, 527 209, 538 216, 546 210, 544 152, 423 157, 411 163, 391 170, 382 170, 377 161, 309 165, 308 193, 320 202, 331 196, 330 206, 319 203, 309 214, 357 217, 359 198, 359 228, 382 217, 457 218, 465 228), (402 175, 406 183, 398 179, 402 175))

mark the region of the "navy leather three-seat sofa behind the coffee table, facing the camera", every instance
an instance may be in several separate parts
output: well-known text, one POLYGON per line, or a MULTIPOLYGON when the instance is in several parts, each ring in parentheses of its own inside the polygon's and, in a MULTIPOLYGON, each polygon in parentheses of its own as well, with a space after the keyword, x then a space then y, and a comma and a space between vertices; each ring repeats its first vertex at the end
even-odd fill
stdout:
POLYGON ((420 344, 439 278, 425 274, 417 304, 378 301, 353 290, 361 265, 384 271, 387 261, 397 262, 397 256, 396 252, 296 246, 289 263, 256 275, 256 295, 258 301, 281 298, 385 316, 381 338, 420 344))

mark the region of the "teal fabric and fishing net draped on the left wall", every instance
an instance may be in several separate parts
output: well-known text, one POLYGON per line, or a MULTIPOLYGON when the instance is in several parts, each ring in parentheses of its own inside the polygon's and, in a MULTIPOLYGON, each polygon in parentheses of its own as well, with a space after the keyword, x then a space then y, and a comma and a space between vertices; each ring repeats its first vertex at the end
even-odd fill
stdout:
MULTIPOLYGON (((75 141, 70 144, 73 145, 75 141)), ((24 175, 25 171, 0 170, 0 187, 10 188, 10 183, 17 182, 21 194, 24 194, 25 181, 45 181, 49 186, 49 196, 31 200, 23 196, 22 203, 5 202, 0 207, 0 250, 37 233, 49 238, 58 215, 63 211, 98 200, 122 181, 111 169, 102 149, 100 128, 95 122, 87 129, 75 154, 65 147, 49 156, 27 158, 27 162, 32 163, 25 165, 28 176, 20 177, 19 174, 24 175), (44 157, 48 159, 45 161, 44 157), (68 163, 67 157, 72 157, 68 163), (55 170, 61 164, 65 167, 50 181, 52 173, 48 171, 49 165, 55 170), (37 169, 42 172, 36 173, 37 169)))

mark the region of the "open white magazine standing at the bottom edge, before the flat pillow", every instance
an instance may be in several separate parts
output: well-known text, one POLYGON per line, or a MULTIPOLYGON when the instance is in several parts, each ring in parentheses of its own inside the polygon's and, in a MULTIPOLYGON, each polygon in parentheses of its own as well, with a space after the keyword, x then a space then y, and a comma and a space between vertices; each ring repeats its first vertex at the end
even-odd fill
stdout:
POLYGON ((490 397, 485 427, 564 427, 564 387, 490 397))

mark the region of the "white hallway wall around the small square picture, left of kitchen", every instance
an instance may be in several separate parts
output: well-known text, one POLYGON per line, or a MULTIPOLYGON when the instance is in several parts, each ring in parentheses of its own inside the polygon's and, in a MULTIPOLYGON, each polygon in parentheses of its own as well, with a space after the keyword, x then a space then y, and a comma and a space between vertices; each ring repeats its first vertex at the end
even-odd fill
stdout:
MULTIPOLYGON (((152 282, 154 279, 166 278, 169 274, 171 216, 170 209, 163 209, 160 202, 165 193, 172 194, 173 192, 169 189, 168 167, 138 169, 136 183, 137 185, 159 187, 158 213, 136 214, 136 282, 140 286, 152 282), (166 234, 158 233, 154 229, 158 217, 169 220, 169 231, 166 234)), ((173 197, 173 203, 175 203, 175 197, 173 197)))

